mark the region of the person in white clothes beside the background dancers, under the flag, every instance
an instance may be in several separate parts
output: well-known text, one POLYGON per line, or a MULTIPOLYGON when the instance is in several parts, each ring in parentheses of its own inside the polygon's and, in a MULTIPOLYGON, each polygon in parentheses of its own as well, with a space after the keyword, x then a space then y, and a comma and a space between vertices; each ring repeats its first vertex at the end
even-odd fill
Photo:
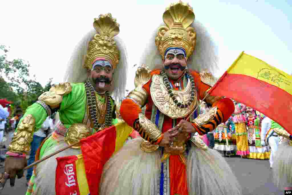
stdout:
POLYGON ((273 167, 274 157, 278 150, 279 146, 279 137, 277 133, 271 128, 271 119, 265 117, 262 121, 262 131, 260 134, 261 138, 261 145, 265 146, 265 143, 269 144, 271 147, 271 154, 270 154, 270 168, 273 167))

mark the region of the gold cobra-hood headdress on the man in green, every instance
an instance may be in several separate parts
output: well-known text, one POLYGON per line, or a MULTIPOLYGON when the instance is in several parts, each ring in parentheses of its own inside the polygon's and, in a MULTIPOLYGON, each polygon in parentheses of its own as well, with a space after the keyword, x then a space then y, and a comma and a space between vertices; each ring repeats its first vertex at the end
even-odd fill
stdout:
POLYGON ((119 34, 119 26, 110 13, 94 18, 93 27, 98 33, 89 42, 84 68, 90 70, 98 57, 109 60, 113 68, 116 68, 119 63, 119 50, 113 37, 119 34))

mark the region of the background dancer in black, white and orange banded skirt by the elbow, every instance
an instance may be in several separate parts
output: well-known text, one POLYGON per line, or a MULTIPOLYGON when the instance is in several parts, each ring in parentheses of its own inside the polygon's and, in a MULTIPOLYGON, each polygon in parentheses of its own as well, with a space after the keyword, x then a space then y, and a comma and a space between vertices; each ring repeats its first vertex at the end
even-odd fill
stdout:
POLYGON ((214 150, 219 151, 225 156, 234 154, 235 145, 233 144, 232 135, 235 133, 235 126, 230 117, 225 123, 221 123, 215 130, 214 150))

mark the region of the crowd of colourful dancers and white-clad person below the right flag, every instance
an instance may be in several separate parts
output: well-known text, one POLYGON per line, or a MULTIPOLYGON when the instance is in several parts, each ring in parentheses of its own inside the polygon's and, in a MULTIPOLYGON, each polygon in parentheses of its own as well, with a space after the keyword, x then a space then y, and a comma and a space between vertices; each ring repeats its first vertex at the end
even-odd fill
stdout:
MULTIPOLYGON (((279 126, 262 113, 233 100, 235 110, 232 116, 218 127, 200 136, 209 146, 223 156, 241 156, 241 158, 269 159, 272 168, 273 157, 283 137, 273 132, 279 126)), ((202 103, 201 113, 208 111, 202 103)))

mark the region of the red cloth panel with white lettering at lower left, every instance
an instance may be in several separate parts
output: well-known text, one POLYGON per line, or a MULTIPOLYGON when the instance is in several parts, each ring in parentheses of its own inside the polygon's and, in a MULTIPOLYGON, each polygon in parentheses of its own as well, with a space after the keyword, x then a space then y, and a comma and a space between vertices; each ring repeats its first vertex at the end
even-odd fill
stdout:
POLYGON ((56 168, 56 194, 80 195, 77 182, 77 156, 58 157, 56 168))

